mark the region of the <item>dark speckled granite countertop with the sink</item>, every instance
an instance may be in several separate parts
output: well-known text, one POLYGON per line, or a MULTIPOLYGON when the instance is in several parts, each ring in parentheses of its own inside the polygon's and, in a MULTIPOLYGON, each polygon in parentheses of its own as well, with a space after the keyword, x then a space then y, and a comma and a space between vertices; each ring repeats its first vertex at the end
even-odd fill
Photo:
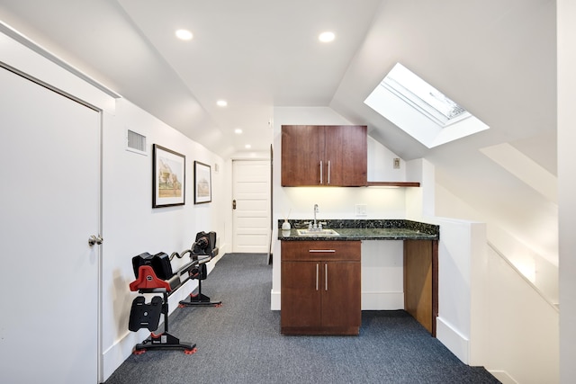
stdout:
POLYGON ((315 234, 301 236, 299 228, 308 228, 306 220, 289 220, 292 229, 283 230, 283 220, 278 222, 278 239, 298 240, 437 240, 440 228, 437 225, 419 221, 392 220, 320 220, 323 228, 334 229, 338 236, 315 234), (324 224, 326 223, 326 224, 324 224))

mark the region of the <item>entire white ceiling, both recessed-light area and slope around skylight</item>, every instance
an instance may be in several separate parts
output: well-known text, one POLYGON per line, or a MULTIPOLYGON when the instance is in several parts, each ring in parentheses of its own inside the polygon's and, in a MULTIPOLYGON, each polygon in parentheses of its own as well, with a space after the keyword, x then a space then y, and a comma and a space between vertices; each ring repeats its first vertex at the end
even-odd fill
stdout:
POLYGON ((553 217, 554 201, 480 149, 508 143, 555 175, 555 12, 554 0, 0 1, 0 20, 223 157, 268 151, 275 106, 330 106, 403 159, 426 157, 464 200, 517 212, 500 218, 510 228, 553 217), (326 30, 337 38, 321 44, 326 30), (377 115, 363 102, 396 62, 491 129, 428 149, 377 115))

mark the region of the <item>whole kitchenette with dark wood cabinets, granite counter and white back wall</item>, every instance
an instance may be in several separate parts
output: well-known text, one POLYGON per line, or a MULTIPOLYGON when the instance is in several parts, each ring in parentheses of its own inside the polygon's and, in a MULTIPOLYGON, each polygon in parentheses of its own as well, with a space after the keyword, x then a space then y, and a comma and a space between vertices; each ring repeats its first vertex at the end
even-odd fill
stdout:
POLYGON ((439 227, 420 220, 423 163, 392 154, 366 126, 279 128, 271 308, 280 332, 359 335, 363 310, 405 310, 436 336, 439 227))

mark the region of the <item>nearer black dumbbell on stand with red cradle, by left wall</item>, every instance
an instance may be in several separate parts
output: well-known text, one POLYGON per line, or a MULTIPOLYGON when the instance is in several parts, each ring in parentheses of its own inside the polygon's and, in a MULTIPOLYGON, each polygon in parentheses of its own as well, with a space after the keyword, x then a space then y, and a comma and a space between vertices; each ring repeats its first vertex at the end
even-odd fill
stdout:
MULTIPOLYGON (((192 268, 193 264, 194 262, 187 264, 186 268, 192 268)), ((168 255, 140 254, 132 258, 132 266, 136 280, 130 282, 131 291, 162 293, 162 297, 154 296, 148 304, 143 296, 132 301, 128 329, 135 332, 140 328, 148 328, 150 331, 148 339, 137 344, 133 353, 141 354, 151 349, 183 349, 186 354, 195 353, 196 344, 180 342, 177 337, 168 334, 168 292, 173 290, 173 286, 177 287, 180 284, 179 274, 172 273, 168 255), (162 314, 164 332, 156 335, 152 331, 157 329, 162 314)))

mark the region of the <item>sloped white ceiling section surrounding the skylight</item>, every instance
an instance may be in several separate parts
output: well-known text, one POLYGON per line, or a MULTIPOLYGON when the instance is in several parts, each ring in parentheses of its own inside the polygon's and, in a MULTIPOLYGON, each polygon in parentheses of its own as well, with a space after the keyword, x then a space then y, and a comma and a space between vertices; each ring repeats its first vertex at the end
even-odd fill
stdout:
POLYGON ((491 126, 459 147, 522 140, 555 131, 555 52, 554 1, 383 2, 331 106, 405 159, 444 151, 359 103, 401 62, 491 126))

